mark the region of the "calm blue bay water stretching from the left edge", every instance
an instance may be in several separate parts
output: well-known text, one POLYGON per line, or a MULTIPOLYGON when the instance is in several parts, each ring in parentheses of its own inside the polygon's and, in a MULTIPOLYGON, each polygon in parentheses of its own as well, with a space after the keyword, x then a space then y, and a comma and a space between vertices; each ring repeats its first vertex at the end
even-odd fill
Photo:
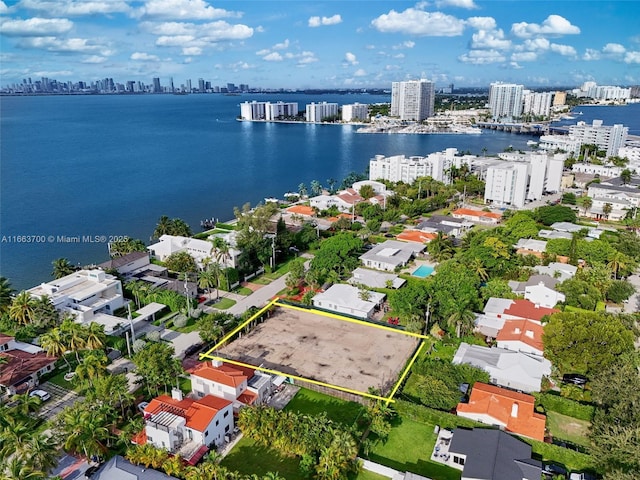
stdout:
POLYGON ((233 207, 245 202, 362 172, 376 154, 425 155, 447 147, 495 153, 508 145, 526 149, 530 140, 490 131, 365 135, 354 127, 237 122, 245 100, 297 101, 302 109, 311 101, 389 97, 0 98, 0 238, 45 237, 44 243, 0 243, 0 275, 28 288, 51 279, 56 258, 81 265, 108 258, 106 243, 63 243, 58 236, 128 235, 148 243, 161 215, 180 217, 198 231, 201 219, 231 219, 233 207))

